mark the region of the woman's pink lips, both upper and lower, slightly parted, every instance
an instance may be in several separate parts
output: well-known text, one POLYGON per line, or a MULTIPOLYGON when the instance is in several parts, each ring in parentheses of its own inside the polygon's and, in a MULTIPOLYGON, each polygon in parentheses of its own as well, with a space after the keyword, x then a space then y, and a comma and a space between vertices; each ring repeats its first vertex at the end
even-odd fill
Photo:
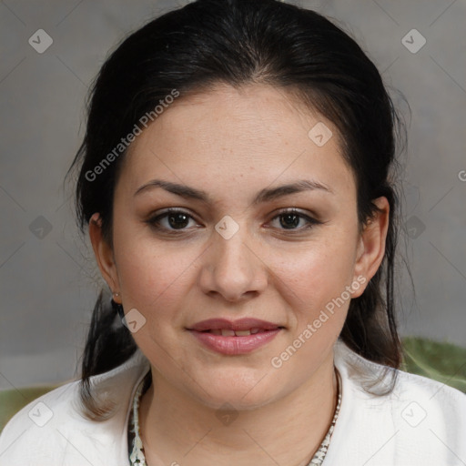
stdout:
POLYGON ((208 319, 198 322, 189 332, 208 349, 228 356, 248 354, 274 339, 283 329, 282 326, 260 319, 208 319), (258 333, 246 336, 222 336, 209 333, 207 330, 259 329, 258 333))

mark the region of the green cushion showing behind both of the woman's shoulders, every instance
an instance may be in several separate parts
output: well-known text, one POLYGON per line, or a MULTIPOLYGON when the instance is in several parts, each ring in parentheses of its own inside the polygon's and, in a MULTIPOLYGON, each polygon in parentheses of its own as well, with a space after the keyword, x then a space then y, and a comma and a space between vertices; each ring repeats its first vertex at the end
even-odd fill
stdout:
MULTIPOLYGON (((402 370, 439 380, 466 393, 466 348, 416 337, 402 339, 402 342, 404 355, 402 370)), ((0 391, 0 431, 15 412, 59 386, 44 385, 0 391)))

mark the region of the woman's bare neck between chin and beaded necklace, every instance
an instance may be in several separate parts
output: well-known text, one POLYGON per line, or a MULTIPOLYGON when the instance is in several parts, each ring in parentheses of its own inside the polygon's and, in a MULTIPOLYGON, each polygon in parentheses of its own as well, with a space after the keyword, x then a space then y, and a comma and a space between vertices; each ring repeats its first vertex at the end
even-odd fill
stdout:
POLYGON ((254 410, 213 410, 155 368, 152 375, 139 415, 150 466, 223 466, 232 458, 245 466, 306 466, 329 430, 338 398, 333 353, 297 390, 254 410))

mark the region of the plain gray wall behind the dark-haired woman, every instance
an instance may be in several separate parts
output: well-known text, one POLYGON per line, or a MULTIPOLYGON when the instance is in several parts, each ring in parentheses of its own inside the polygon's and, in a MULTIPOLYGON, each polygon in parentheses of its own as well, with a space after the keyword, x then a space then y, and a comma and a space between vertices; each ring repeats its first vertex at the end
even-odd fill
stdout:
MULTIPOLYGON (((123 35, 177 5, 0 2, 0 390, 77 375, 101 284, 63 186, 84 135, 86 92, 123 35), (53 39, 42 54, 28 43, 46 45, 38 29, 53 39)), ((393 93, 409 123, 402 248, 417 294, 415 301, 403 272, 401 331, 466 346, 466 3, 299 5, 343 25, 410 104, 411 116, 393 93), (419 51, 412 29, 426 40, 419 51)))

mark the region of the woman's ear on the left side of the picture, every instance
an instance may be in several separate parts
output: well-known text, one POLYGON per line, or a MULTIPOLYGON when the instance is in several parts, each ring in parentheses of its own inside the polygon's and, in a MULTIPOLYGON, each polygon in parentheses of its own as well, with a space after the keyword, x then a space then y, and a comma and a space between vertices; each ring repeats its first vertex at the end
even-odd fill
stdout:
MULTIPOLYGON (((98 268, 100 268, 102 277, 106 280, 106 284, 110 287, 113 293, 119 292, 120 284, 115 257, 112 248, 103 237, 102 219, 98 213, 94 214, 89 220, 89 238, 91 240, 94 255, 96 256, 97 265, 98 268)), ((119 301, 119 299, 114 299, 117 302, 119 301)))

